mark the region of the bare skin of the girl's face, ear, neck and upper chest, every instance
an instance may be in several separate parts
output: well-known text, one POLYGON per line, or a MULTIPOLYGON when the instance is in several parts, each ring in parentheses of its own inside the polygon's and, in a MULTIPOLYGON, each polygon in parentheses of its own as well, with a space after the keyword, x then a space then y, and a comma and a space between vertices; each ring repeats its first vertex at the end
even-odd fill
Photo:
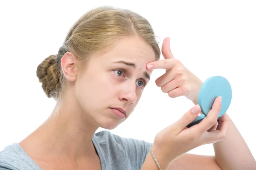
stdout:
POLYGON ((63 99, 20 145, 45 169, 79 169, 95 163, 99 165, 95 169, 100 168, 93 134, 99 127, 113 129, 131 115, 143 92, 143 81, 148 82, 144 72, 152 72, 146 64, 152 61, 153 48, 138 37, 125 38, 110 52, 95 54, 82 71, 76 71, 76 56, 67 52, 61 61, 68 80, 63 99), (118 61, 134 63, 136 68, 113 63, 118 61), (116 116, 110 107, 126 110, 125 118, 116 116))

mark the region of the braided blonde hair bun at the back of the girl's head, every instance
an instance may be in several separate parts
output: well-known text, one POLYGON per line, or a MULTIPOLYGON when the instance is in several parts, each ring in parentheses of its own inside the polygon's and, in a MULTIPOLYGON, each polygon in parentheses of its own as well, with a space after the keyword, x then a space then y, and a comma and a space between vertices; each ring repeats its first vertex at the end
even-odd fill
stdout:
POLYGON ((36 75, 47 97, 58 97, 58 69, 55 62, 55 55, 50 55, 38 65, 36 75))

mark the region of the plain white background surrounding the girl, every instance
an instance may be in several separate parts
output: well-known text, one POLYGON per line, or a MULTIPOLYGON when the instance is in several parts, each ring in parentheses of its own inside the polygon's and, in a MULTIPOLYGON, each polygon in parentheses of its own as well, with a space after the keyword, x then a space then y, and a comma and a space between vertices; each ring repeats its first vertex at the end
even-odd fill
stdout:
MULTIPOLYGON (((51 114, 55 101, 45 96, 36 68, 58 53, 68 29, 82 14, 103 5, 127 8, 145 17, 159 37, 160 48, 163 39, 170 37, 174 56, 202 81, 226 77, 233 91, 227 113, 256 157, 253 0, 1 1, 0 150, 20 142, 51 114)), ((153 142, 160 130, 192 108, 184 96, 172 99, 155 85, 164 73, 153 71, 134 113, 112 133, 153 142)), ((214 150, 207 144, 189 153, 214 155, 214 150)))

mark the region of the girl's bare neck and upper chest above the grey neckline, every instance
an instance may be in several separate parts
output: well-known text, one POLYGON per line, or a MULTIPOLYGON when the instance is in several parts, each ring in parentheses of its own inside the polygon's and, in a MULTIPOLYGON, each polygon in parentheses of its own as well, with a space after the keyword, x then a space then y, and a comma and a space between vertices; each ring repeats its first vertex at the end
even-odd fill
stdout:
POLYGON ((24 150, 30 150, 37 156, 40 153, 42 158, 58 155, 58 159, 74 161, 96 153, 91 140, 98 127, 90 123, 90 118, 78 109, 74 100, 69 99, 58 102, 52 115, 20 142, 24 150))

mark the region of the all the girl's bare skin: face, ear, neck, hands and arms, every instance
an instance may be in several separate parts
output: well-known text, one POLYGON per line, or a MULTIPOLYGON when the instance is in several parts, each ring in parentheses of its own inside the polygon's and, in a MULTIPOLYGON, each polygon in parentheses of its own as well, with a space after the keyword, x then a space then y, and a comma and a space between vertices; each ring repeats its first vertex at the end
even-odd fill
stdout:
MULTIPOLYGON (((156 85, 172 98, 186 96, 195 105, 198 104, 197 95, 202 82, 173 57, 169 38, 163 40, 162 54, 165 59, 155 61, 151 46, 138 37, 127 37, 116 43, 110 52, 95 54, 87 68, 76 71, 76 56, 67 52, 61 61, 67 78, 63 99, 57 102, 49 119, 20 142, 21 147, 44 170, 100 170, 99 156, 91 142, 93 134, 98 127, 113 129, 130 116, 142 95, 142 81, 148 82, 145 72, 150 76, 152 69, 166 69, 166 73, 156 80, 156 85), (126 64, 113 63, 121 60, 126 64), (147 64, 153 65, 153 68, 147 68, 147 64), (116 116, 110 109, 114 107, 126 110, 125 118, 116 116)), ((175 148, 172 152, 173 148, 161 149, 159 146, 162 144, 153 144, 152 150, 162 169, 253 170, 255 159, 227 113, 221 116, 218 123, 214 122, 220 107, 218 100, 215 104, 212 114, 208 114, 211 118, 201 124, 184 128, 201 111, 195 114, 190 110, 185 113, 186 116, 180 113, 180 120, 158 133, 156 138, 166 139, 165 132, 172 131, 173 137, 169 138, 169 142, 175 148), (196 129, 203 130, 198 133, 196 129), (199 134, 199 139, 191 138, 191 133, 199 134), (215 156, 184 154, 201 144, 212 142, 215 142, 215 156)), ((165 146, 169 147, 170 143, 165 142, 165 146)), ((158 169, 150 153, 143 169, 158 169)))

